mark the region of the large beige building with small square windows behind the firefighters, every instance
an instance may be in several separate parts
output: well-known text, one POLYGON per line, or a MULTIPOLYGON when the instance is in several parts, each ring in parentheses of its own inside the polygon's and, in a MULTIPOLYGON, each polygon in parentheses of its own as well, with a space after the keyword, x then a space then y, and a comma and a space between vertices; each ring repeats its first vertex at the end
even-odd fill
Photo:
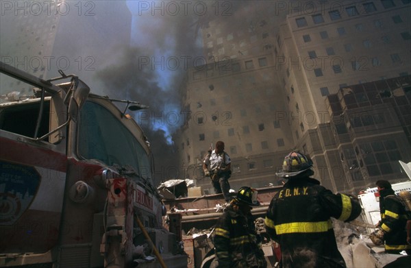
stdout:
MULTIPOLYGON (((342 95, 344 88, 410 75, 410 1, 334 1, 321 6, 283 1, 285 7, 279 1, 264 1, 265 6, 256 2, 203 27, 208 64, 191 69, 182 88, 187 117, 177 145, 186 177, 199 179, 203 192, 212 193, 209 179, 201 180, 201 160, 210 144, 221 140, 232 158, 230 183, 236 189, 281 184, 275 171, 290 149, 310 154, 316 178, 334 191, 356 192, 374 186, 379 178, 406 178, 393 164, 397 158, 410 161, 402 149, 410 151, 406 110, 391 107, 392 117, 404 119, 394 126, 386 117, 387 125, 383 123, 384 133, 394 127, 401 136, 400 156, 381 161, 389 162, 392 172, 380 170, 377 175, 363 160, 364 168, 358 169, 362 173, 354 175, 356 167, 345 162, 352 158, 346 147, 356 152, 360 136, 364 143, 386 137, 379 136, 383 126, 341 139, 336 127, 347 127, 347 122, 336 126, 329 103, 343 101, 331 96, 342 95), (280 12, 284 10, 288 14, 280 12), (213 61, 216 56, 223 60, 213 61)), ((400 88, 404 96, 410 94, 400 88)), ((375 161, 379 165, 377 157, 375 161)))

